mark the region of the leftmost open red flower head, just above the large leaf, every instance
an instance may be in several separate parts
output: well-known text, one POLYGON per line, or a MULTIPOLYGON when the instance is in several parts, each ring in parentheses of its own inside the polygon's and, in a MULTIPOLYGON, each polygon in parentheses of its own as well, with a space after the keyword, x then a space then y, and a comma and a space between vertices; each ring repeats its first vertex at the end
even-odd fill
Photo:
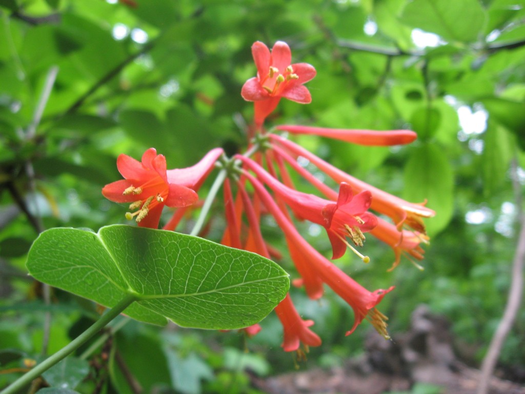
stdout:
POLYGON ((135 220, 141 227, 158 228, 164 205, 181 207, 195 203, 198 199, 194 190, 184 185, 169 182, 166 176, 166 158, 150 148, 139 162, 121 154, 117 168, 125 178, 107 184, 102 194, 114 202, 131 203, 126 217, 135 220))

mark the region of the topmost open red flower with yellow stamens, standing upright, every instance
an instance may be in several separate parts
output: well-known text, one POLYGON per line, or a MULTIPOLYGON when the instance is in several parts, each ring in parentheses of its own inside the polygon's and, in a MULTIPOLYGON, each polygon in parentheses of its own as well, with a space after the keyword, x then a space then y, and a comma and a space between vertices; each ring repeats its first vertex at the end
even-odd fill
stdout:
POLYGON ((307 63, 291 64, 288 44, 278 41, 270 50, 257 41, 251 46, 251 54, 257 67, 257 77, 248 79, 241 96, 255 101, 255 123, 262 125, 265 118, 277 107, 281 97, 308 104, 310 92, 303 86, 316 76, 316 69, 307 63))

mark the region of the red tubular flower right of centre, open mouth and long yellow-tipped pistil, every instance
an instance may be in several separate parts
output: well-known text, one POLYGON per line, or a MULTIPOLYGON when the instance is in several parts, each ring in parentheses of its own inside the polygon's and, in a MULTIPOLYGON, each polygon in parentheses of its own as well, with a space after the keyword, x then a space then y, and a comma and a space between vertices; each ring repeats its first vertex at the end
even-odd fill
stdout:
POLYGON ((349 237, 355 246, 363 246, 363 233, 372 230, 377 223, 376 216, 366 212, 372 202, 372 194, 369 191, 362 191, 354 196, 351 187, 343 182, 340 185, 338 200, 334 203, 317 195, 290 189, 271 177, 253 160, 240 155, 236 158, 242 160, 257 177, 270 186, 297 216, 324 226, 332 244, 333 259, 343 256, 348 246, 363 261, 370 261, 345 240, 345 237, 349 237))

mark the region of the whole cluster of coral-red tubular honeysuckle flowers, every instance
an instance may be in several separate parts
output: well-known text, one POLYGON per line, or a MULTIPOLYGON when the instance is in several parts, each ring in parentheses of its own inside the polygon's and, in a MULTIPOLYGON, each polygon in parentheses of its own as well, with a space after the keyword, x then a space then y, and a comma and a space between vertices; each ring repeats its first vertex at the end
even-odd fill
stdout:
MULTIPOLYGON (((254 122, 249 135, 255 138, 249 141, 251 148, 248 152, 225 159, 223 150, 217 148, 209 151, 193 167, 173 170, 166 169, 164 156, 156 154, 153 148, 144 153, 141 162, 122 154, 117 167, 124 180, 106 185, 102 193, 112 201, 130 203, 129 209, 134 212, 128 212, 126 216, 134 218, 139 226, 158 228, 163 206, 176 208, 172 219, 163 227, 174 230, 188 208, 198 203, 197 191, 214 164, 222 162, 229 177, 223 183, 226 226, 221 242, 268 258, 278 257, 279 251, 266 242, 260 226, 261 217, 271 215, 282 231, 297 269, 298 277, 293 284, 304 287, 312 299, 323 295, 324 286, 344 299, 355 316, 346 335, 367 319, 382 336, 389 338, 387 318, 376 307, 393 287, 369 291, 361 286, 310 245, 297 230, 296 221, 306 220, 324 227, 332 246, 332 260, 350 249, 362 261, 369 262, 370 258, 361 254, 358 248, 363 246, 366 235, 371 234, 392 247, 395 255, 393 269, 400 263, 402 255, 414 264, 414 259, 422 260, 424 251, 421 245, 428 242, 423 218, 433 216, 434 211, 426 208, 424 203, 404 201, 352 177, 278 132, 315 134, 366 146, 407 144, 415 140, 416 134, 409 130, 347 130, 290 125, 277 126, 274 132, 267 132, 264 122, 281 98, 304 104, 311 101, 310 92, 303 84, 316 75, 316 70, 306 63, 291 64, 290 48, 284 42, 277 42, 271 51, 261 42, 256 42, 251 49, 257 76, 247 80, 241 90, 245 100, 254 102, 254 122), (333 190, 301 167, 299 157, 308 159, 318 171, 339 184, 339 190, 333 190), (322 196, 297 190, 290 171, 309 182, 322 196), (376 214, 389 217, 392 222, 376 214)), ((290 294, 275 312, 283 326, 282 347, 285 351, 298 351, 303 355, 310 346, 321 345, 319 336, 310 329, 313 320, 304 320, 299 315, 290 294)), ((253 336, 260 329, 256 324, 244 331, 253 336)))

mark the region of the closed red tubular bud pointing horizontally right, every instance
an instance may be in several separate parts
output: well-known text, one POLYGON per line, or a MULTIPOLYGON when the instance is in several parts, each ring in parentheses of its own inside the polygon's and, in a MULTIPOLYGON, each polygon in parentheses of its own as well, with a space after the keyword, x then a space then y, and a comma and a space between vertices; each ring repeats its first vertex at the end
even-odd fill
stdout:
POLYGON ((288 131, 292 134, 314 134, 371 147, 404 145, 413 142, 417 138, 417 134, 411 130, 350 130, 289 125, 277 126, 276 129, 288 131))

